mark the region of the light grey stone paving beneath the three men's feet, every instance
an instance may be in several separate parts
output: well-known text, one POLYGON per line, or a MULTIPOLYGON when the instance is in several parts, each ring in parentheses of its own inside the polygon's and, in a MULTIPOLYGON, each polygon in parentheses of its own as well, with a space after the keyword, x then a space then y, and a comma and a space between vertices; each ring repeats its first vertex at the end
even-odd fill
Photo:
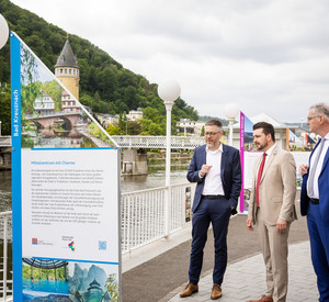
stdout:
MULTIPOLYGON (((318 300, 316 276, 310 262, 309 242, 290 246, 288 267, 290 282, 287 302, 315 302, 318 300)), ((202 278, 198 292, 189 298, 180 298, 183 287, 171 293, 177 293, 170 302, 204 302, 211 300, 213 287, 212 273, 202 278)), ((262 255, 228 265, 223 282, 220 302, 249 301, 261 297, 265 289, 265 269, 262 255)))

